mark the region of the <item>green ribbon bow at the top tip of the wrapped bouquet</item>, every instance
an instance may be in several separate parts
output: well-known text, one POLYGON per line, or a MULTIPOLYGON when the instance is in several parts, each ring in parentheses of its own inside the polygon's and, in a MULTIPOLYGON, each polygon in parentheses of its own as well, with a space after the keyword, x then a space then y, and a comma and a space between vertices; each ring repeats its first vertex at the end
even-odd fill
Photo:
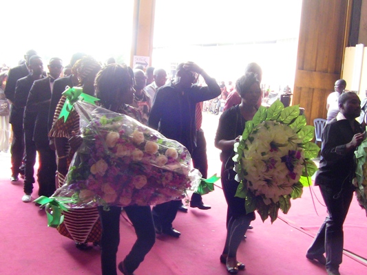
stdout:
POLYGON ((73 105, 76 101, 81 100, 90 104, 95 104, 94 102, 99 100, 94 96, 84 94, 83 88, 81 87, 68 88, 63 92, 63 96, 66 96, 66 100, 63 105, 63 109, 61 109, 59 118, 64 117, 64 122, 66 122, 67 117, 69 116, 70 111, 72 111, 73 105))

